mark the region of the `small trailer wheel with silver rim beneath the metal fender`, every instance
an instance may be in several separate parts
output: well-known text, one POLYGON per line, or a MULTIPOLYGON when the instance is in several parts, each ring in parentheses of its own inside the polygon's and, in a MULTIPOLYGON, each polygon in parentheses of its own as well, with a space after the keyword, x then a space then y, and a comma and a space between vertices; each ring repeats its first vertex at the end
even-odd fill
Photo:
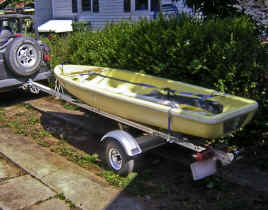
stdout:
POLYGON ((108 140, 105 147, 108 167, 121 176, 127 176, 134 169, 134 160, 129 159, 119 142, 108 140))

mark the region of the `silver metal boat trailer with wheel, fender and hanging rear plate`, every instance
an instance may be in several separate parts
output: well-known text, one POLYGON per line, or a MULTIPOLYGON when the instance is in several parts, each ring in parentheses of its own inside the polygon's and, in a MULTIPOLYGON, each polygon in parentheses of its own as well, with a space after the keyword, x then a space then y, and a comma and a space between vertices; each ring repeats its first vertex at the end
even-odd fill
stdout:
POLYGON ((32 80, 22 85, 21 88, 30 90, 34 94, 38 94, 40 91, 45 92, 54 96, 56 99, 64 100, 85 110, 115 120, 120 124, 142 131, 145 135, 134 137, 130 132, 126 132, 123 129, 113 130, 105 134, 100 140, 100 142, 105 143, 105 159, 107 165, 114 172, 123 176, 133 171, 134 161, 139 155, 166 143, 174 143, 196 153, 194 155, 196 162, 191 164, 194 180, 200 180, 215 174, 217 171, 217 162, 220 162, 222 166, 229 165, 237 155, 237 152, 226 153, 210 147, 199 146, 182 134, 162 132, 84 104, 72 96, 65 94, 57 80, 55 81, 54 89, 32 80))

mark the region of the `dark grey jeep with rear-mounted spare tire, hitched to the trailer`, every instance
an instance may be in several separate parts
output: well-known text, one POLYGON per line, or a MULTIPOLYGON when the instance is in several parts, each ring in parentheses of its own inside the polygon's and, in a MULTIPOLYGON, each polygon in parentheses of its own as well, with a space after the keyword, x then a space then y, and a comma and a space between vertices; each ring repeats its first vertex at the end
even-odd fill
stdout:
POLYGON ((0 15, 0 92, 29 79, 47 80, 51 76, 48 51, 31 15, 0 15))

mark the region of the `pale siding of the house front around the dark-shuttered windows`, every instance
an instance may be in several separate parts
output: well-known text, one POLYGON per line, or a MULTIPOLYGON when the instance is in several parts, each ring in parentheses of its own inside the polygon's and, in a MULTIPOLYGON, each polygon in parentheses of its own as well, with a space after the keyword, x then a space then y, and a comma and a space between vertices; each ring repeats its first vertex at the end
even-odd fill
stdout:
POLYGON ((35 0, 36 5, 38 5, 36 11, 42 14, 42 18, 40 18, 42 19, 42 23, 44 19, 73 19, 77 17, 80 21, 89 21, 94 28, 103 28, 106 23, 121 20, 135 21, 140 17, 151 18, 153 15, 150 11, 134 11, 134 1, 132 1, 132 11, 129 13, 124 12, 124 0, 99 0, 98 13, 81 11, 81 0, 77 1, 79 5, 78 13, 76 14, 72 13, 72 0, 35 0), (48 9, 49 7, 50 10, 48 9), (43 8, 49 11, 47 16, 45 16, 45 12, 42 11, 43 8))

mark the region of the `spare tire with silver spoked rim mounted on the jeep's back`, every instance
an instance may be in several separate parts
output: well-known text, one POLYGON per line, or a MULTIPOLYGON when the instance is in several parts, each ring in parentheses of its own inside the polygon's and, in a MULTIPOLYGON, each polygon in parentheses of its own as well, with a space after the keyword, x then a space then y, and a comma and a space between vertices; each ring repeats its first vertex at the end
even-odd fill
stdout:
POLYGON ((32 37, 15 38, 5 52, 7 67, 18 76, 27 77, 35 74, 41 61, 41 48, 32 37))

